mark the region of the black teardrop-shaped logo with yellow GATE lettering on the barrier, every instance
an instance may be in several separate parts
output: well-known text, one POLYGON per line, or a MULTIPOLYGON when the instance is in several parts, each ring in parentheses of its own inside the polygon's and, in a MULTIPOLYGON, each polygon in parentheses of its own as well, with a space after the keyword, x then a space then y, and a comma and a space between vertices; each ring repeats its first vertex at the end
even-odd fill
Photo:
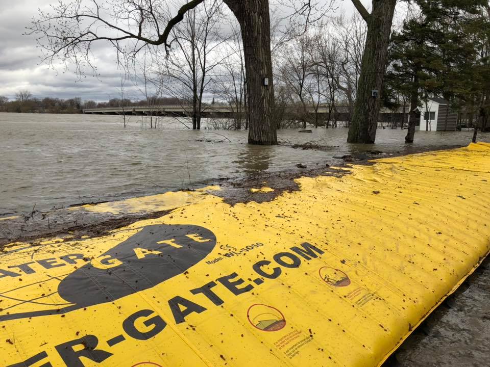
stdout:
POLYGON ((58 294, 70 305, 4 314, 0 321, 65 313, 149 289, 186 272, 204 259, 215 245, 215 235, 200 226, 161 224, 143 227, 61 280, 58 294))

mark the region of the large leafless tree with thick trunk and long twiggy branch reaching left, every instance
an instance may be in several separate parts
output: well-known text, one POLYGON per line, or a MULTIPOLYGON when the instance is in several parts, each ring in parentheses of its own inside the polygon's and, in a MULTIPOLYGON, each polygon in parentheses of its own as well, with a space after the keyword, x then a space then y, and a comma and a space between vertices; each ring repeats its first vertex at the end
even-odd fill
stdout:
MULTIPOLYGON (((268 0, 223 0, 237 18, 242 34, 247 70, 250 116, 249 143, 277 144, 274 114, 274 83, 271 60, 271 29, 268 0), (268 81, 266 83, 265 81, 268 81)), ((52 65, 59 59, 75 65, 79 73, 93 65, 92 44, 110 42, 117 55, 136 55, 148 45, 169 48, 171 31, 187 12, 205 0, 189 0, 177 15, 168 17, 163 2, 156 0, 60 0, 50 12, 40 12, 30 33, 39 36, 44 60, 52 65), (104 5, 104 6, 103 6, 104 5), (130 47, 127 41, 134 41, 130 47)))

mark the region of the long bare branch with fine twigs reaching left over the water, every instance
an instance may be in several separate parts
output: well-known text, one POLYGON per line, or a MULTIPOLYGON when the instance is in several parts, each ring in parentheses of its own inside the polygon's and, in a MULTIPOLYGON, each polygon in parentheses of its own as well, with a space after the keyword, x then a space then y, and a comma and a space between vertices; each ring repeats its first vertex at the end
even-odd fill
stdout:
POLYGON ((114 0, 107 3, 112 5, 112 9, 103 7, 103 3, 96 0, 89 3, 83 0, 60 1, 52 6, 50 12, 40 10, 39 17, 32 20, 26 34, 40 36, 37 41, 43 53, 42 62, 51 66, 55 66, 57 60, 65 66, 74 64, 79 75, 84 74, 84 66, 90 66, 96 73, 96 67, 90 61, 93 42, 109 41, 117 51, 118 62, 120 55, 132 54, 134 57, 145 46, 164 44, 167 49, 170 30, 187 11, 203 2, 192 0, 182 6, 160 34, 157 19, 163 16, 155 9, 152 0, 114 0), (128 40, 135 42, 130 46, 126 43, 128 40))

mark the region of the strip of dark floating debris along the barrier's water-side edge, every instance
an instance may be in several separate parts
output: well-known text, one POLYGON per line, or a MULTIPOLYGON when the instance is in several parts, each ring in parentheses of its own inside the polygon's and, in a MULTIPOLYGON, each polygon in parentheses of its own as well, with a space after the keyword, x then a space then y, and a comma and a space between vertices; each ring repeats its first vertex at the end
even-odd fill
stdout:
MULTIPOLYGON (((459 146, 434 147, 433 150, 420 148, 415 150, 414 153, 454 148, 459 148, 459 146)), ((342 157, 337 156, 336 158, 324 163, 322 166, 301 166, 304 168, 292 167, 291 169, 280 172, 258 172, 254 174, 247 174, 244 177, 211 179, 206 183, 190 185, 190 188, 177 191, 167 190, 142 196, 122 196, 117 200, 79 202, 70 204, 66 207, 63 206, 54 208, 50 211, 39 211, 33 207, 33 211, 31 211, 31 213, 27 212, 22 215, 13 216, 7 215, 0 218, 0 246, 16 241, 27 241, 35 244, 37 241, 42 240, 43 237, 51 236, 53 234, 60 235, 62 237, 68 236, 68 238, 74 238, 74 233, 76 233, 75 238, 80 238, 83 235, 103 235, 104 233, 107 233, 108 231, 121 225, 128 225, 143 219, 157 218, 158 216, 164 214, 163 212, 160 213, 159 211, 152 212, 146 210, 138 213, 128 213, 124 211, 119 213, 103 213, 101 211, 93 212, 90 209, 87 209, 91 206, 95 207, 99 204, 113 204, 118 201, 124 202, 128 199, 137 200, 139 198, 161 197, 167 193, 192 193, 196 190, 206 190, 206 187, 212 187, 214 185, 219 185, 220 189, 219 191, 213 191, 213 195, 223 198, 225 202, 231 205, 249 201, 256 201, 260 203, 264 201, 271 201, 284 191, 299 190, 298 183, 295 182, 295 179, 297 178, 315 177, 320 175, 339 177, 349 174, 348 169, 352 164, 371 165, 375 159, 403 155, 406 154, 402 154, 399 151, 372 151, 367 153, 358 153, 355 155, 344 155, 342 157), (335 169, 330 167, 335 167, 335 169), (273 188, 273 191, 261 192, 260 188, 263 186, 271 187, 273 188), (258 191, 251 192, 251 189, 258 191)), ((172 208, 168 208, 168 210, 171 209, 172 208)))

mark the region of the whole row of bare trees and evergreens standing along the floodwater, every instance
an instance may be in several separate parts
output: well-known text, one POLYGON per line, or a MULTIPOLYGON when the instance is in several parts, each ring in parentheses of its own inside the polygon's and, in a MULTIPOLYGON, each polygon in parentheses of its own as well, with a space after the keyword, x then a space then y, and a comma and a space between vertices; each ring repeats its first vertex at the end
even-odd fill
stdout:
MULTIPOLYGON (((92 44, 110 41, 146 99, 167 95, 192 103, 193 128, 200 128, 206 93, 243 112, 237 116, 252 144, 277 143, 287 103, 297 104, 303 124, 315 125, 307 106, 328 106, 333 116, 340 104, 348 106, 353 143, 373 143, 380 108, 401 102, 410 102, 406 142, 413 141, 416 108, 436 95, 486 128, 487 0, 400 2, 410 11, 394 33, 396 0, 373 0, 370 10, 352 0, 357 15, 333 21, 335 1, 280 0, 280 8, 294 10, 286 30, 284 17, 271 16, 268 0, 167 7, 109 1, 113 12, 97 1, 82 3, 62 1, 33 21, 45 61, 61 59, 82 72, 82 60, 92 62, 92 44)), ((123 87, 121 78, 121 99, 123 87)))

